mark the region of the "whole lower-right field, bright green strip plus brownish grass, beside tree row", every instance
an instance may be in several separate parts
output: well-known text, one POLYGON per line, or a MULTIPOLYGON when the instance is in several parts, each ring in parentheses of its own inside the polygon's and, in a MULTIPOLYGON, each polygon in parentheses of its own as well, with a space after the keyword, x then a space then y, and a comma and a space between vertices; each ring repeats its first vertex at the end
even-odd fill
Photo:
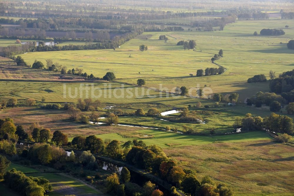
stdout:
POLYGON ((271 142, 264 132, 193 136, 145 129, 96 136, 121 142, 142 139, 148 145, 159 145, 168 156, 196 171, 198 179, 209 175, 233 187, 236 195, 294 192, 293 181, 289 181, 294 175, 293 147, 271 142))

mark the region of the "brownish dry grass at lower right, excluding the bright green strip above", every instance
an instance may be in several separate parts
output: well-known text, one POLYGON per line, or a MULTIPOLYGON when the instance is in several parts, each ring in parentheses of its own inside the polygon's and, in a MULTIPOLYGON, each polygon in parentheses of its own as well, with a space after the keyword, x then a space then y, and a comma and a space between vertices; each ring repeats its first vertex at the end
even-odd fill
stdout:
POLYGON ((197 171, 198 179, 212 176, 235 193, 294 192, 294 148, 270 140, 216 143, 166 149, 184 167, 197 171))

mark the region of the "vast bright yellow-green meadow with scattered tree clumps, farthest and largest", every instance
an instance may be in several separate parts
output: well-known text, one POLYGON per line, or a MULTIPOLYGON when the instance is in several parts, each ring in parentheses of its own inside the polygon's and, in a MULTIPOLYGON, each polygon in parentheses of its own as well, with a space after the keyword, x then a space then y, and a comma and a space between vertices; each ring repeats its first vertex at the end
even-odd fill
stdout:
MULTIPOLYGON (((268 84, 247 84, 249 77, 268 75, 270 69, 276 75, 292 69, 291 55, 294 51, 286 47, 286 43, 294 37, 291 26, 294 26, 291 20, 237 21, 228 24, 224 31, 145 32, 116 51, 39 52, 38 60, 45 62, 46 59, 53 59, 70 69, 80 66, 85 72, 98 77, 111 71, 121 82, 136 83, 138 78, 144 78, 148 87, 159 88, 159 84, 162 84, 172 89, 177 86, 191 88, 197 84, 200 87, 207 85, 213 93, 237 92, 243 102, 258 91, 268 91, 268 84), (285 25, 290 28, 285 29, 285 25), (282 28, 286 34, 253 36, 254 31, 259 32, 263 28, 282 28), (158 40, 160 34, 168 35, 168 43, 158 40), (190 39, 196 40, 196 51, 184 51, 182 46, 176 46, 178 41, 190 39), (138 51, 141 44, 147 45, 148 51, 138 51), (190 73, 195 75, 197 69, 216 67, 210 59, 220 49, 223 49, 224 57, 217 63, 227 68, 225 74, 189 77, 190 73)), ((36 58, 35 53, 21 56, 29 63, 36 58)))

